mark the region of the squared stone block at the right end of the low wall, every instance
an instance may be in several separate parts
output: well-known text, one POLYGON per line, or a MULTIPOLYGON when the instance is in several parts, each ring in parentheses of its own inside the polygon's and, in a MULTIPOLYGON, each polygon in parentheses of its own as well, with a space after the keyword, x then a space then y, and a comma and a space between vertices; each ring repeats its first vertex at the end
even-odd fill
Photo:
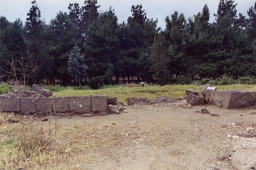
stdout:
POLYGON ((108 96, 104 94, 92 95, 92 111, 106 111, 108 109, 108 96))

